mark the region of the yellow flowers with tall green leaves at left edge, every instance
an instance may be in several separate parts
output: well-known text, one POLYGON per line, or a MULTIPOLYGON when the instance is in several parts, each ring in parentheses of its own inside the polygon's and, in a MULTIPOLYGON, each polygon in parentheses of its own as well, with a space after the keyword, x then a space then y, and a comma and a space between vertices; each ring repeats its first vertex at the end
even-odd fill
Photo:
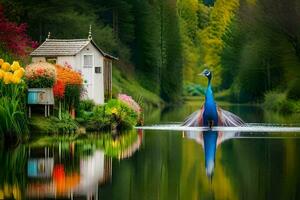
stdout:
POLYGON ((0 137, 20 138, 28 133, 26 120, 26 84, 24 68, 0 59, 0 137))

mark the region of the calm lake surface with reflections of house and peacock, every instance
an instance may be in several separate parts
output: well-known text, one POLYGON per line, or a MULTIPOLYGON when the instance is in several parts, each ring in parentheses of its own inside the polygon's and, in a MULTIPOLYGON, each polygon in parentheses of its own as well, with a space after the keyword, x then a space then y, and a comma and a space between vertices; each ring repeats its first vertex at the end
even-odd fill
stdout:
MULTIPOLYGON (((198 103, 149 111, 182 122, 198 103)), ((223 105, 249 123, 293 124, 257 106, 223 105)), ((300 199, 300 133, 133 130, 40 138, 0 150, 0 199, 300 199)))

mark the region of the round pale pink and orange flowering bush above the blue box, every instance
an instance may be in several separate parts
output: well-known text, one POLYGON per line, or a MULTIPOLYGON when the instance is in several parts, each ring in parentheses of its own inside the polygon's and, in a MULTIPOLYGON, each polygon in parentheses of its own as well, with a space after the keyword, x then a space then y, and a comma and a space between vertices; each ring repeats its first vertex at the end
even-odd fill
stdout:
POLYGON ((56 81, 55 66, 46 63, 32 63, 26 67, 26 81, 30 88, 51 88, 56 81))

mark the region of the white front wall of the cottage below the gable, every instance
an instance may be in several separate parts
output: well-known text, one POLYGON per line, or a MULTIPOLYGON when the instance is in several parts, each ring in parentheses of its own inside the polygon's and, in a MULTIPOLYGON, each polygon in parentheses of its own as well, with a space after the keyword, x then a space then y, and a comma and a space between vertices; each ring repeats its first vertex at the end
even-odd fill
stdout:
POLYGON ((96 104, 104 103, 104 80, 103 80, 103 55, 91 43, 82 49, 75 57, 76 63, 80 63, 84 77, 87 96, 93 99, 96 104), (83 56, 93 55, 93 67, 83 67, 83 56), (95 73, 95 67, 101 68, 101 73, 95 73))

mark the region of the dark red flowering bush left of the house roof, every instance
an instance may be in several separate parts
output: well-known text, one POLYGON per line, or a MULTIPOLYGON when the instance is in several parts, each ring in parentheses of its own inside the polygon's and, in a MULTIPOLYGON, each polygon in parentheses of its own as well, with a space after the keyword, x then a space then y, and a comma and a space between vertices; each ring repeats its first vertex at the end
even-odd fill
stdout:
POLYGON ((37 46, 26 34, 26 24, 17 25, 8 21, 0 5, 0 43, 5 49, 18 56, 25 56, 37 46))

